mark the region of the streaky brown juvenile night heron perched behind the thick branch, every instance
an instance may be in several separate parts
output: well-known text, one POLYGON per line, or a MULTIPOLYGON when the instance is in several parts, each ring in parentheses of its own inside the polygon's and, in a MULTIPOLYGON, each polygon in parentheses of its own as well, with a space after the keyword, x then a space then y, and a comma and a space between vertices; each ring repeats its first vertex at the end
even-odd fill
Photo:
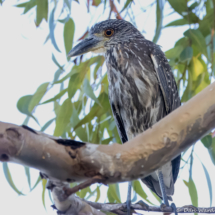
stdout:
MULTIPOLYGON (((174 76, 164 53, 131 23, 113 19, 96 24, 88 38, 75 46, 69 56, 89 51, 105 54, 109 100, 123 143, 180 106, 174 76)), ((180 159, 181 155, 142 179, 167 206, 174 193, 180 159)), ((129 214, 130 195, 131 183, 129 214)))

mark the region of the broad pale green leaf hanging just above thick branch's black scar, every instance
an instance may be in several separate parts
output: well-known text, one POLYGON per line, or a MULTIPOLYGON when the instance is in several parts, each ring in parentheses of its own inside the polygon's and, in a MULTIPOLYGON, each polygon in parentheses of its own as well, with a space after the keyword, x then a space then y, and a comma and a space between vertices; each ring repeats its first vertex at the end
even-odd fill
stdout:
POLYGON ((54 136, 61 136, 63 132, 65 132, 65 129, 67 125, 70 122, 70 118, 72 116, 72 102, 68 98, 66 99, 63 104, 60 107, 59 113, 57 115, 56 119, 56 127, 54 130, 54 136))

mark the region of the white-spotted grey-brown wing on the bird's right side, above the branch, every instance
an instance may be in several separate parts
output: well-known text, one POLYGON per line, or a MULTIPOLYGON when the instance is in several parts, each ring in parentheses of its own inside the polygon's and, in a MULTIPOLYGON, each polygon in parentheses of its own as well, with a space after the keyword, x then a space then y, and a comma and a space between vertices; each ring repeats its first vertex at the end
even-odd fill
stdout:
POLYGON ((151 59, 163 94, 167 114, 181 105, 171 67, 158 46, 152 51, 151 59))

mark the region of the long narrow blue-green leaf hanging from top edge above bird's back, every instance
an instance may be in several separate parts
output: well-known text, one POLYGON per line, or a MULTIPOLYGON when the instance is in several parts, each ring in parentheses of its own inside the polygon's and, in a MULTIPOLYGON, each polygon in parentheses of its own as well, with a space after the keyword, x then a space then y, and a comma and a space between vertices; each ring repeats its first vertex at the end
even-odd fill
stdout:
POLYGON ((163 0, 156 0, 157 1, 157 8, 156 8, 156 32, 155 36, 153 38, 153 42, 157 43, 160 34, 161 34, 161 29, 163 27, 163 9, 164 9, 164 2, 163 0))

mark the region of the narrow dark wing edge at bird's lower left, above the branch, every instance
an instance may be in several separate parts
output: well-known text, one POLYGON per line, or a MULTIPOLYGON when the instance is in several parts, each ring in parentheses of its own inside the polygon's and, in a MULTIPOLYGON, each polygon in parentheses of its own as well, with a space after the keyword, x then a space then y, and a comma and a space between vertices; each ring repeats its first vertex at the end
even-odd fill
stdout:
POLYGON ((112 112, 113 112, 113 116, 115 118, 115 122, 117 124, 117 130, 120 136, 120 139, 122 141, 122 143, 125 143, 128 141, 128 137, 125 131, 125 126, 123 123, 123 119, 122 116, 120 114, 120 110, 119 110, 119 106, 115 105, 114 103, 111 104, 111 108, 112 108, 112 112))

